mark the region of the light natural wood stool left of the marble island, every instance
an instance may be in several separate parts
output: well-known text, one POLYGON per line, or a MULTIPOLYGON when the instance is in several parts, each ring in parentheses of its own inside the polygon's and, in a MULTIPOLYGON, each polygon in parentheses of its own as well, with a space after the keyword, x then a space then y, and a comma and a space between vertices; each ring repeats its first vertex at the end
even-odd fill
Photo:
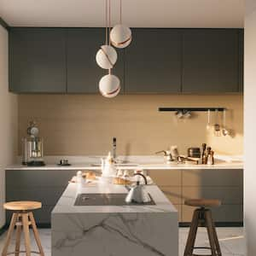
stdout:
POLYGON ((15 256, 18 256, 20 253, 26 253, 26 256, 30 256, 31 253, 38 253, 41 256, 44 256, 44 250, 43 250, 41 241, 39 239, 37 225, 32 213, 32 210, 41 208, 42 204, 38 201, 11 201, 3 204, 3 207, 7 210, 13 211, 14 213, 9 225, 9 230, 7 233, 6 241, 4 243, 2 256, 7 256, 8 254, 15 254, 15 256), (32 226, 35 240, 38 244, 39 252, 31 251, 30 237, 29 237, 30 225, 32 226), (11 239, 13 230, 15 230, 15 226, 16 226, 15 252, 8 253, 10 239, 11 239), (20 251, 21 227, 23 227, 26 251, 20 251))

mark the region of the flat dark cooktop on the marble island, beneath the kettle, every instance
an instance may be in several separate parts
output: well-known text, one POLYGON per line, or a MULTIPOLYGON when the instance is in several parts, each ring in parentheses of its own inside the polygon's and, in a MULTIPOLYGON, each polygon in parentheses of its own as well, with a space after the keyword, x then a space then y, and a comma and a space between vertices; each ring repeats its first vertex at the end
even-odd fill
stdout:
POLYGON ((89 207, 89 206, 153 206, 155 205, 153 198, 146 203, 126 203, 126 193, 111 193, 111 194, 79 194, 76 198, 74 206, 89 207))

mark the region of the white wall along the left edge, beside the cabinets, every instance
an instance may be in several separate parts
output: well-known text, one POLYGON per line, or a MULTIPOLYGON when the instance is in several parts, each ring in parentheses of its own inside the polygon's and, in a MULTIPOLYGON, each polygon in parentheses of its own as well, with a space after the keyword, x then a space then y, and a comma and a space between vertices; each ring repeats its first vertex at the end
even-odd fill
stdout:
POLYGON ((3 212, 4 167, 15 162, 17 148, 17 96, 8 91, 8 32, 0 26, 0 228, 3 212))

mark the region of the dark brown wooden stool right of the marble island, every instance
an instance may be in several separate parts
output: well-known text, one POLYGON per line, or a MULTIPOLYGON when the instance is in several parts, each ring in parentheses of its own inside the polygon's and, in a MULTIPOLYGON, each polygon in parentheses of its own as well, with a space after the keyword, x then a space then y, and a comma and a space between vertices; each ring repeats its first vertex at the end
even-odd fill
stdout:
POLYGON ((212 221, 212 212, 210 209, 207 209, 207 207, 219 207, 221 201, 214 199, 191 199, 185 201, 185 205, 199 208, 195 209, 193 214, 184 256, 199 255, 193 253, 194 249, 210 249, 212 253, 208 254, 208 256, 221 256, 215 224, 212 221), (210 247, 195 247, 195 237, 199 226, 207 228, 210 247))

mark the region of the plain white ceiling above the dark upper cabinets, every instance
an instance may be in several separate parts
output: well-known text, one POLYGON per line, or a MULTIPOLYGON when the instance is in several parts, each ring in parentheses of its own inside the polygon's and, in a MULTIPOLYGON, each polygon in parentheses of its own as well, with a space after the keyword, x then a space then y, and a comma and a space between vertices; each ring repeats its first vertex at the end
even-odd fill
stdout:
MULTIPOLYGON (((0 0, 9 26, 104 26, 105 0, 0 0)), ((119 0, 111 0, 112 24, 119 0)), ((245 0, 122 0, 131 27, 243 27, 245 0)))

